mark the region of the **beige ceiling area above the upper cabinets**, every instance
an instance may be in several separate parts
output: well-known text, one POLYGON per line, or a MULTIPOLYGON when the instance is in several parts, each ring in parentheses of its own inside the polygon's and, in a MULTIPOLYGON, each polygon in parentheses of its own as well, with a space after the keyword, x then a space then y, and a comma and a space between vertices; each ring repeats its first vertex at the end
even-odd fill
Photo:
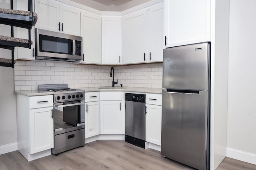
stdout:
POLYGON ((150 0, 71 0, 100 11, 124 11, 150 0))

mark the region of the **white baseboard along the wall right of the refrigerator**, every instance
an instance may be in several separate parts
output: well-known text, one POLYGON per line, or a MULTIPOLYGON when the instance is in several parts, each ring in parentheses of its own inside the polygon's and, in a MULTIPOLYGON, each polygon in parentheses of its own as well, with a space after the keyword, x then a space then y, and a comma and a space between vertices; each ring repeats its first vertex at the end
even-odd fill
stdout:
POLYGON ((248 162, 250 164, 256 164, 256 154, 244 152, 242 150, 227 148, 227 157, 248 162))

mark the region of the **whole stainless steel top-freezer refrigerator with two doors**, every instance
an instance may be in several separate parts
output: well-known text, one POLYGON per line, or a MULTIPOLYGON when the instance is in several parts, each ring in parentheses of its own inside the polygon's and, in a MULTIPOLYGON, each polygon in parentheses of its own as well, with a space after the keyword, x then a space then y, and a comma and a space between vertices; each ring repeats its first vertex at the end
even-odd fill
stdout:
POLYGON ((210 43, 164 49, 161 154, 209 169, 210 43))

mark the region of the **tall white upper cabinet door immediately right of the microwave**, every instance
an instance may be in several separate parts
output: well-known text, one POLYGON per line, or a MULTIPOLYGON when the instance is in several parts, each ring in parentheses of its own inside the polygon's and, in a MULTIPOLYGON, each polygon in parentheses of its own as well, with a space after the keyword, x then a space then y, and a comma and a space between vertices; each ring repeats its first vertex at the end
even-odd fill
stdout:
POLYGON ((82 12, 81 20, 84 59, 82 63, 101 64, 101 18, 82 12))

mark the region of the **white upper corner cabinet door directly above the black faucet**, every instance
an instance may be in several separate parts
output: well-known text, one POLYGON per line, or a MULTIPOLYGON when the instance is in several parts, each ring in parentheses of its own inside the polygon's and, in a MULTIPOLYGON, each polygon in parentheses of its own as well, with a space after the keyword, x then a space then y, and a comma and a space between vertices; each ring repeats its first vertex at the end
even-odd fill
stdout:
POLYGON ((121 64, 121 18, 102 18, 102 64, 121 64))

